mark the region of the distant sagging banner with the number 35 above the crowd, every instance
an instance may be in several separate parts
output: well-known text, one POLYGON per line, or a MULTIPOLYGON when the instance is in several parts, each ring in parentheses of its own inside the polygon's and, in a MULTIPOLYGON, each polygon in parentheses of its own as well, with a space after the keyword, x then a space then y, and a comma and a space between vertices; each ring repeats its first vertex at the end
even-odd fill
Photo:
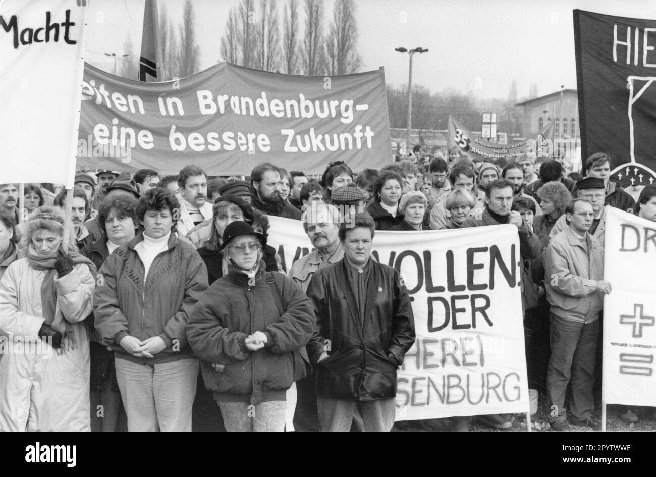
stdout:
POLYGON ((457 147, 472 159, 481 161, 494 161, 495 159, 508 159, 509 161, 522 155, 535 156, 537 141, 529 139, 517 144, 504 145, 490 142, 474 135, 453 116, 449 115, 447 148, 457 147))

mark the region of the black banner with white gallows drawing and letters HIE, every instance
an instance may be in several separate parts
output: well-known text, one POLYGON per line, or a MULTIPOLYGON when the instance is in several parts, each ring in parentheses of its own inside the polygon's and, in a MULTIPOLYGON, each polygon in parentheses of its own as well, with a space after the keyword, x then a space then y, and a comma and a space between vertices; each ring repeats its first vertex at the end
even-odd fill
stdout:
POLYGON ((605 152, 621 186, 653 184, 656 20, 573 14, 583 161, 605 152))

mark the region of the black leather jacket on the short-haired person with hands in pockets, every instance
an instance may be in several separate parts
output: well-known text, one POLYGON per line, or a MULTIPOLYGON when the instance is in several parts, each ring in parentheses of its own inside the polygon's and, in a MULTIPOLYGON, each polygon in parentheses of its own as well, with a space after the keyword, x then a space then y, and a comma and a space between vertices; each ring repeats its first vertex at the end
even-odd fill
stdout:
POLYGON ((320 268, 307 291, 317 316, 308 343, 310 360, 317 362, 330 344, 329 357, 317 364, 317 394, 356 401, 394 398, 396 370, 415 342, 407 288, 394 268, 369 259, 367 302, 361 318, 347 266, 342 259, 320 268))

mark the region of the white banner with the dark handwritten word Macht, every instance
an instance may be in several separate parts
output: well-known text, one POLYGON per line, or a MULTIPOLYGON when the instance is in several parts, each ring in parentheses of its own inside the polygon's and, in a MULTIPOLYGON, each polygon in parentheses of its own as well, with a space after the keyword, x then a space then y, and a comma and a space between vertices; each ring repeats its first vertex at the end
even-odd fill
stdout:
POLYGON ((0 3, 3 182, 73 187, 86 5, 75 0, 0 3))

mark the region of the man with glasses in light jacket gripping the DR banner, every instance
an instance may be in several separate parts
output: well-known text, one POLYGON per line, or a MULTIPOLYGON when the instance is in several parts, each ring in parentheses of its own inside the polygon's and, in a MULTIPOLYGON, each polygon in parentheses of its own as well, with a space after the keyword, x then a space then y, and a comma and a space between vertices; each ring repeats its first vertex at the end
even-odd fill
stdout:
MULTIPOLYGON (((600 200, 603 203, 603 196, 600 200)), ((564 215, 567 225, 549 241, 543 255, 546 299, 551 305, 546 391, 550 424, 558 431, 569 430, 567 420, 573 425, 601 427, 592 415, 592 386, 599 316, 611 284, 604 280, 604 247, 589 232, 595 215, 590 201, 571 201, 564 215), (571 398, 565 411, 568 385, 571 398)))

